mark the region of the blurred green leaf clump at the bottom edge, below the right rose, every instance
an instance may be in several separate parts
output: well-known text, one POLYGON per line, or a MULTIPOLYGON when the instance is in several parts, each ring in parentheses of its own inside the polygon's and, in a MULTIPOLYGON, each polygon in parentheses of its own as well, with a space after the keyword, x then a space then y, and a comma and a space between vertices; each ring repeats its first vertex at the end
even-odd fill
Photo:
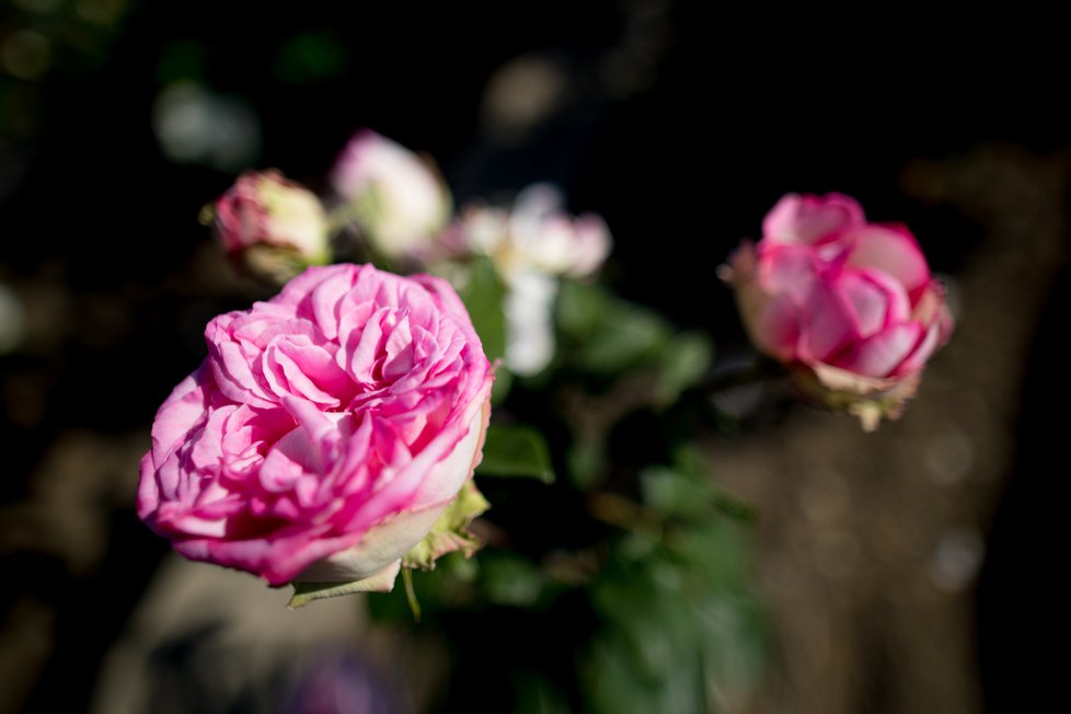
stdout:
POLYGON ((645 511, 666 521, 655 540, 612 541, 590 588, 602 621, 586 660, 590 709, 739 711, 771 652, 748 523, 719 511, 721 488, 692 444, 672 465, 641 470, 640 485, 645 511))

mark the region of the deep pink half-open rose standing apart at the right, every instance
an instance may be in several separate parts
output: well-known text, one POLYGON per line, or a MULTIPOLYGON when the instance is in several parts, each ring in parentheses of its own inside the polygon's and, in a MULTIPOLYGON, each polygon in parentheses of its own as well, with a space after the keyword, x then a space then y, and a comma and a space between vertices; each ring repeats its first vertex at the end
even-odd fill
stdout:
POLYGON ((896 418, 953 329, 914 237, 867 222, 848 196, 788 194, 722 275, 748 334, 805 393, 860 417, 896 418))

